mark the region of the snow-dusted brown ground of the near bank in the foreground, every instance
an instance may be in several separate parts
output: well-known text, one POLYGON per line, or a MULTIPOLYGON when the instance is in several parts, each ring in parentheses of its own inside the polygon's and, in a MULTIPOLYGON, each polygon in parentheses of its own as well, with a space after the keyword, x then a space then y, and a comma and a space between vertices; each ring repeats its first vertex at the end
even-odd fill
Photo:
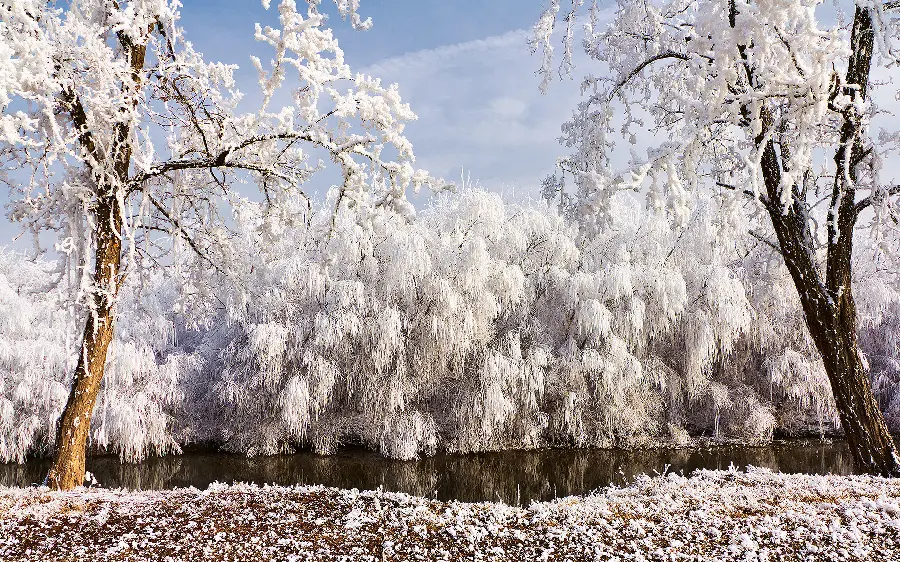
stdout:
POLYGON ((517 508, 323 487, 0 488, 2 560, 900 560, 900 480, 641 477, 517 508))

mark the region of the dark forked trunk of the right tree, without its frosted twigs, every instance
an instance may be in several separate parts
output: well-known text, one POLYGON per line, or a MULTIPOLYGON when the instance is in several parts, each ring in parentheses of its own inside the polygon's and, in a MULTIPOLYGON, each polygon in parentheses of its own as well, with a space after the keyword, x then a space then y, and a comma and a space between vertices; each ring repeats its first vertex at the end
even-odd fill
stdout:
MULTIPOLYGON (((732 4, 733 13, 736 13, 732 4)), ((731 25, 735 25, 734 17, 731 25)), ((874 49, 870 8, 857 7, 851 36, 852 54, 840 93, 865 99, 874 49)), ((749 73, 749 71, 748 71, 749 73)), ((753 83, 752 76, 750 83, 753 83)), ((756 138, 763 149, 763 202, 778 237, 781 254, 800 295, 803 312, 831 383, 841 425, 858 470, 882 476, 900 476, 900 458, 884 414, 872 393, 857 340, 857 313, 853 300, 851 258, 859 209, 856 204, 857 166, 865 159, 863 116, 857 105, 843 110, 840 145, 835 153, 835 181, 828 221, 828 256, 825 278, 816 266, 805 193, 793 186, 793 203, 781 204, 782 161, 787 147, 776 150, 772 138, 756 138), (764 144, 765 143, 765 144, 764 144)), ((763 129, 774 120, 763 111, 763 129)))

